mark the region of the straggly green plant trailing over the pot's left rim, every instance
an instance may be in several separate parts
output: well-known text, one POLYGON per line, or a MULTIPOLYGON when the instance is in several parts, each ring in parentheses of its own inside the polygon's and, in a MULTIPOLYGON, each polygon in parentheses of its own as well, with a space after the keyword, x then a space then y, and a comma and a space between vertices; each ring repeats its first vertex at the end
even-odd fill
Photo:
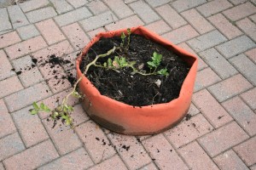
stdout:
POLYGON ((107 62, 103 63, 103 65, 97 64, 97 60, 100 58, 105 58, 119 50, 120 52, 127 53, 130 45, 130 35, 131 30, 127 29, 127 34, 123 32, 121 34, 121 43, 119 47, 113 47, 112 49, 108 50, 106 54, 99 54, 96 55, 96 58, 93 59, 88 65, 85 66, 85 70, 82 77, 79 77, 77 82, 75 82, 73 86, 73 91, 62 100, 61 105, 58 105, 55 107, 54 110, 50 110, 48 106, 44 105, 44 103, 41 103, 40 107, 36 102, 33 102, 32 106, 33 109, 30 110, 32 115, 38 114, 39 111, 44 112, 51 112, 50 117, 56 122, 57 120, 60 120, 62 122, 65 122, 67 126, 70 126, 73 128, 73 118, 71 117, 71 113, 73 112, 73 106, 68 105, 68 99, 70 96, 73 96, 78 99, 82 99, 83 96, 79 94, 79 92, 76 90, 79 82, 82 80, 84 75, 87 74, 87 72, 90 69, 90 66, 94 65, 97 67, 102 67, 104 69, 112 69, 113 71, 118 71, 120 69, 123 69, 124 67, 131 68, 132 72, 131 74, 141 74, 143 76, 150 76, 150 75, 162 75, 162 76, 168 76, 169 73, 167 72, 167 69, 161 69, 160 71, 157 71, 158 67, 160 66, 162 55, 154 52, 153 57, 151 58, 151 61, 148 61, 148 67, 150 69, 149 73, 146 73, 146 71, 140 71, 140 69, 137 69, 135 67, 136 61, 128 61, 124 56, 114 56, 113 59, 110 57, 107 59, 107 62), (153 71, 152 71, 153 70, 153 71))

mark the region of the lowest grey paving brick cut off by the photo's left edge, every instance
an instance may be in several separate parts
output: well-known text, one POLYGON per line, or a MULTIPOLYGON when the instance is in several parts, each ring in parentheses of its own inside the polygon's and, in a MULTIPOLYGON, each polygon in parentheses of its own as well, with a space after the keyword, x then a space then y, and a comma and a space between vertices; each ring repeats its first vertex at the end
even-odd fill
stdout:
POLYGON ((0 139, 0 161, 25 150, 25 146, 18 133, 12 133, 9 136, 0 139))

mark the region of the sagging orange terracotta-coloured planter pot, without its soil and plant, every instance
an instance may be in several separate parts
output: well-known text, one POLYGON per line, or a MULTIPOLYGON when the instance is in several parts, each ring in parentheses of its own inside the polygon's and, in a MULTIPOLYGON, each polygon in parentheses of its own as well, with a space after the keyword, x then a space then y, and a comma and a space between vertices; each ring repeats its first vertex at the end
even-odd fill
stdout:
MULTIPOLYGON (((83 49, 76 61, 77 77, 83 76, 79 69, 79 64, 88 49, 101 37, 120 36, 123 31, 126 32, 126 29, 97 34, 83 49)), ((117 133, 132 135, 160 133, 180 122, 189 110, 198 60, 193 54, 177 47, 172 42, 166 41, 154 32, 148 31, 143 26, 131 28, 131 32, 147 37, 154 42, 159 42, 178 54, 188 65, 191 65, 179 97, 166 104, 133 107, 100 94, 91 82, 86 77, 83 77, 79 82, 79 89, 86 96, 83 101, 84 110, 91 119, 102 125, 102 127, 117 133)))

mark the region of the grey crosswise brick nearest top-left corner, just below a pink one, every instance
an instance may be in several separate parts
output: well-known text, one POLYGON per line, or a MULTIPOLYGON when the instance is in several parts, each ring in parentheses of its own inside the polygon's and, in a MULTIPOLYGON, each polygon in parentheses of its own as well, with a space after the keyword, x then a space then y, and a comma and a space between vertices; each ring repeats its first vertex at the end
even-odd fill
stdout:
POLYGON ((33 10, 31 12, 26 13, 26 17, 31 23, 46 20, 54 17, 55 15, 57 15, 57 13, 55 12, 55 9, 52 7, 39 8, 38 10, 33 10))

